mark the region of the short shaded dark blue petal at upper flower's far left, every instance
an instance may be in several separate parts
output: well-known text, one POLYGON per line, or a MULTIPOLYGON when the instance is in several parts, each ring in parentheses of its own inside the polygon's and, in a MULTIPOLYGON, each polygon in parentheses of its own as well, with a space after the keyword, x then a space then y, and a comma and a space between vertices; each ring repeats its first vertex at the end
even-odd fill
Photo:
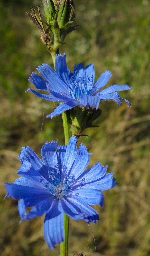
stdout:
POLYGON ((38 90, 47 91, 46 82, 36 73, 32 73, 28 79, 38 90))

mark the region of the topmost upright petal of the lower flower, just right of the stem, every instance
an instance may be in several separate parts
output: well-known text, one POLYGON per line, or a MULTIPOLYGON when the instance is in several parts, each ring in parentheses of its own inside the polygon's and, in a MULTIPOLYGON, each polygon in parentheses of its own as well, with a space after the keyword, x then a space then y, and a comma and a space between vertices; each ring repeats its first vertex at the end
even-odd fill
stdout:
MULTIPOLYGON (((77 137, 73 136, 69 140, 69 145, 67 145, 64 162, 62 163, 62 171, 66 173, 72 167, 74 160, 76 158, 78 149, 77 149, 77 137)), ((63 178, 63 177, 62 177, 63 178)))

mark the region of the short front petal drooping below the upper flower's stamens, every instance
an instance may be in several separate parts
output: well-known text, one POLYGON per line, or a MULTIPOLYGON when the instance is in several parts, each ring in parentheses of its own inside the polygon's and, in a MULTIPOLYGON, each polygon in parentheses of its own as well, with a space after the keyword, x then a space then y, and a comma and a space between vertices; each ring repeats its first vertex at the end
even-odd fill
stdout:
POLYGON ((98 109, 100 102, 100 97, 90 96, 86 94, 81 94, 81 103, 84 107, 91 107, 98 109))

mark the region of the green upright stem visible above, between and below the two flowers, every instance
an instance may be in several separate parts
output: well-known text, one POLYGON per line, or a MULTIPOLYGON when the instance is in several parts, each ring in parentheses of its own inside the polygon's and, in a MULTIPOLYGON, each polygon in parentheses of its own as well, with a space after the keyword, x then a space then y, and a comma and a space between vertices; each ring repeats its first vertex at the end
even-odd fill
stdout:
MULTIPOLYGON (((59 49, 57 50, 57 54, 59 54, 59 49)), ((55 69, 55 59, 56 59, 56 52, 51 53, 51 57, 54 64, 55 69)), ((62 113, 63 119, 63 127, 64 127, 64 135, 65 135, 65 145, 69 144, 69 139, 72 136, 70 127, 69 127, 69 119, 67 112, 62 113)), ((64 213, 64 230, 65 230, 65 239, 64 243, 60 243, 60 256, 68 256, 68 231, 69 231, 69 216, 64 213)))

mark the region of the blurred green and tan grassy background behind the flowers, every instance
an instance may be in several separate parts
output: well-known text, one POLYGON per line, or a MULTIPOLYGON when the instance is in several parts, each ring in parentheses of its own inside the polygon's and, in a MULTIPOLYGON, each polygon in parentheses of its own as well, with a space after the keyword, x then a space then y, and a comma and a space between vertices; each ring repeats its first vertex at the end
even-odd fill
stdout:
MULTIPOLYGON (((60 52, 66 53, 71 70, 75 63, 95 63, 96 79, 105 70, 113 73, 107 86, 128 84, 120 92, 129 99, 118 106, 102 101, 102 114, 80 137, 92 152, 90 166, 108 164, 119 184, 104 192, 104 206, 95 206, 99 221, 87 225, 70 221, 69 255, 150 255, 150 2, 148 0, 75 0, 78 30, 69 34, 60 52), (95 252, 95 245, 96 252, 95 252)), ((25 11, 42 5, 40 0, 0 1, 0 176, 14 182, 20 166, 18 155, 31 146, 40 156, 41 146, 58 139, 64 144, 61 116, 45 116, 55 108, 32 93, 24 93, 28 77, 50 54, 25 11)), ((5 196, 0 185, 1 256, 55 256, 43 236, 44 217, 19 224, 17 200, 5 196)))

